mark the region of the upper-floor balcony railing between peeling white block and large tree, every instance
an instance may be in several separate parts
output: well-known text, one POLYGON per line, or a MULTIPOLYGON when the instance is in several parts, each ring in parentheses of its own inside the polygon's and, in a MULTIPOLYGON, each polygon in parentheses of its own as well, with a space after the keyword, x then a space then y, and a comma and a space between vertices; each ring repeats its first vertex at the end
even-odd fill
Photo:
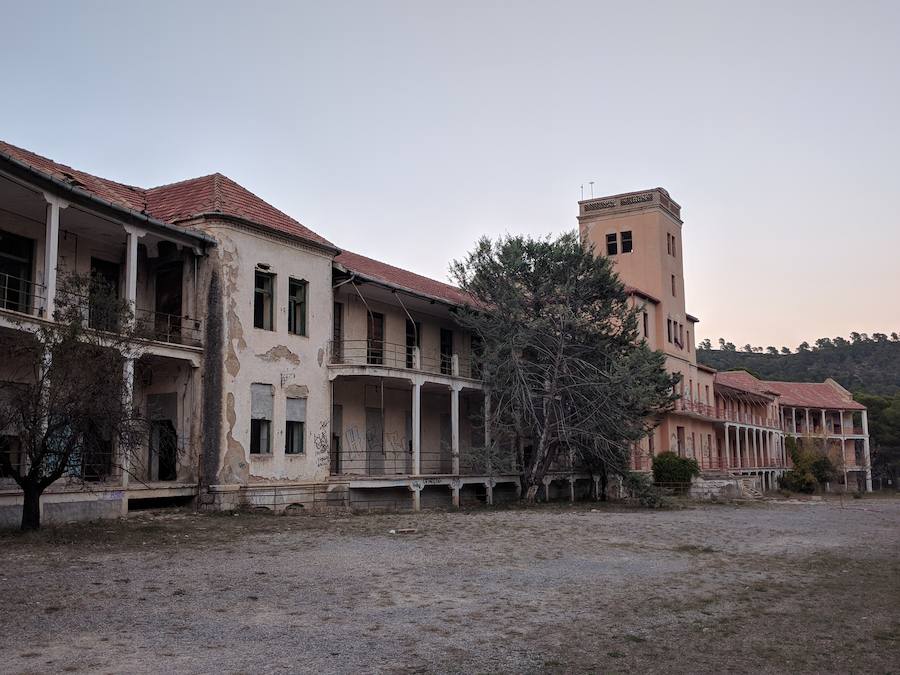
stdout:
POLYGON ((472 362, 458 354, 423 354, 420 350, 384 340, 331 340, 328 362, 332 365, 383 366, 426 373, 472 377, 472 362))

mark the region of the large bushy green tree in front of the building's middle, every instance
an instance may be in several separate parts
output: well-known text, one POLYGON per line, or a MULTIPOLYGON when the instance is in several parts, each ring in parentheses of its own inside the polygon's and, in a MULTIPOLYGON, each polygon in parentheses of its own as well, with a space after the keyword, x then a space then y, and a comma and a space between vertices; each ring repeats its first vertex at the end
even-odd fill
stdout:
POLYGON ((483 238, 452 272, 479 304, 458 321, 481 341, 494 442, 522 448, 525 498, 556 462, 624 473, 678 378, 641 339, 610 260, 575 232, 483 238))

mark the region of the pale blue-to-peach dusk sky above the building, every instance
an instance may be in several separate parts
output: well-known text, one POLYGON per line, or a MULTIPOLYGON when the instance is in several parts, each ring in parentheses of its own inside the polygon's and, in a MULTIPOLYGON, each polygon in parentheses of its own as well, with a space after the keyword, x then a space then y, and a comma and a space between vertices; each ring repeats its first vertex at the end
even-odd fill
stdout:
POLYGON ((682 205, 698 339, 900 331, 900 2, 0 0, 0 138, 220 171, 447 279, 595 194, 682 205))

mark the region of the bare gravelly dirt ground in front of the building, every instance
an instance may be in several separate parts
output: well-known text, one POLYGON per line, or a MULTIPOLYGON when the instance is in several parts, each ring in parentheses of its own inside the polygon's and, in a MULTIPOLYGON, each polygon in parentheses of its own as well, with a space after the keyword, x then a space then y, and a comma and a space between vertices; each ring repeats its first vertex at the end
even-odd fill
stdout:
POLYGON ((900 499, 138 513, 0 534, 0 607, 4 673, 897 673, 900 499))

